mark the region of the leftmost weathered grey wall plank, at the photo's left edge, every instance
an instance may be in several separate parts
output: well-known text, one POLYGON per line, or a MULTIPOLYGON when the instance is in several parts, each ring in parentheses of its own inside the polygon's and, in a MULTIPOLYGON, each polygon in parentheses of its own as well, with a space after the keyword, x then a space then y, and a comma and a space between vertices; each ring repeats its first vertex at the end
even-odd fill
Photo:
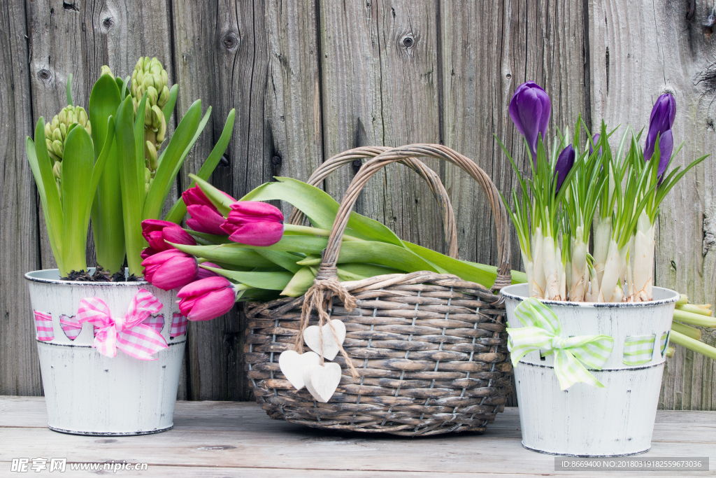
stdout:
POLYGON ((21 1, 0 5, 0 395, 41 395, 25 272, 39 269, 34 179, 25 156, 32 136, 26 16, 21 1))

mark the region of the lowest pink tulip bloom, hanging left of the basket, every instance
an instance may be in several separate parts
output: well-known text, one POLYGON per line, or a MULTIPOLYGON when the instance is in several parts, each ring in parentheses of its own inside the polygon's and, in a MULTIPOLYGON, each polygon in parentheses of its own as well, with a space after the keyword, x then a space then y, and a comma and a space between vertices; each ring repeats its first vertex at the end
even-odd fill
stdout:
POLYGON ((189 320, 211 320, 226 314, 236 302, 236 291, 226 277, 208 277, 179 291, 179 309, 189 320))

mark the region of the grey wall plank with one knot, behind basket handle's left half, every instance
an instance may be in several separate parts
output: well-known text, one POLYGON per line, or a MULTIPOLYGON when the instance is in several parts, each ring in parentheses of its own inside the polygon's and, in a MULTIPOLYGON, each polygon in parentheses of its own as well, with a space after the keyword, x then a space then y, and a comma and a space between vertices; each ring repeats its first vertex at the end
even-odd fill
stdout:
MULTIPOLYGON (((440 141, 435 5, 320 3, 326 159, 360 145, 440 141)), ((428 163, 439 170, 437 161, 428 163)), ((339 200, 355 171, 334 173, 326 191, 339 200)), ((420 181, 390 165, 367 184, 356 210, 403 239, 444 251, 440 214, 420 181)))

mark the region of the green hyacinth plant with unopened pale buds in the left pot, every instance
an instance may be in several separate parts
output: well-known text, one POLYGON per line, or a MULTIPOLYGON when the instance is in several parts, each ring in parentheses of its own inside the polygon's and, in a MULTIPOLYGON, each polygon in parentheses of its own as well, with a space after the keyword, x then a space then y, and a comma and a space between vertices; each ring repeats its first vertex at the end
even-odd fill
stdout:
MULTIPOLYGON (((158 59, 140 58, 125 79, 102 67, 87 110, 73 105, 71 85, 69 75, 67 107, 50 123, 39 118, 34 141, 26 139, 59 274, 75 280, 124 280, 126 260, 130 277, 141 276, 141 254, 147 247, 142 220, 160 217, 211 107, 202 117, 201 102, 196 100, 166 141, 178 87, 168 84, 158 59), (92 276, 85 259, 90 218, 98 266, 92 276)), ((221 160, 234 116, 231 110, 198 177, 209 178, 221 160)), ((165 219, 179 223, 185 213, 179 199, 165 219)))

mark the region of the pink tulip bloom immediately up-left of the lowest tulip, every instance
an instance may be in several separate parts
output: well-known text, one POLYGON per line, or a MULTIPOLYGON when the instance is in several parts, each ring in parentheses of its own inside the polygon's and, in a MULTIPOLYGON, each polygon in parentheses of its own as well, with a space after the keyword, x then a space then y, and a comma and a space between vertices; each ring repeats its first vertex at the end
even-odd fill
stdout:
POLYGON ((144 278, 161 290, 184 287, 198 274, 196 259, 177 249, 153 254, 142 261, 142 266, 145 267, 144 278))

